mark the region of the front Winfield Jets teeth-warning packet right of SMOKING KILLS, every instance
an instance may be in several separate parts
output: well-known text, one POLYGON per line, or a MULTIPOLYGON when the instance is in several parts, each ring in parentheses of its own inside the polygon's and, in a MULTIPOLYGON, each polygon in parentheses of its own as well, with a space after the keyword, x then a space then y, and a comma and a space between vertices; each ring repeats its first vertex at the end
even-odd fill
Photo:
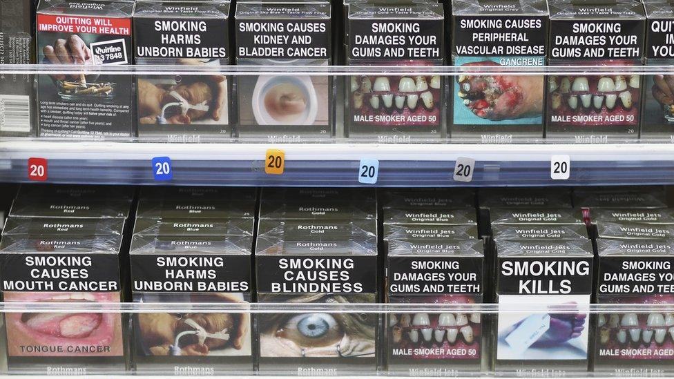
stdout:
MULTIPOLYGON (((597 302, 657 307, 674 302, 671 240, 597 240, 597 302)), ((657 310, 599 313, 595 372, 665 376, 674 371, 674 314, 657 310)))

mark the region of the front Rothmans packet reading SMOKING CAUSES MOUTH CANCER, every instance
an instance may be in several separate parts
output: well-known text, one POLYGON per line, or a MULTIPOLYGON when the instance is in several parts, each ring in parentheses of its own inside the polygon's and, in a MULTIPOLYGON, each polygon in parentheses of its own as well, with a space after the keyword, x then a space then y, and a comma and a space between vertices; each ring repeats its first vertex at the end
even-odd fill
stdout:
POLYGON ((82 302, 122 300, 121 246, 119 234, 3 235, 5 302, 73 302, 72 310, 58 313, 4 315, 10 370, 52 375, 125 371, 123 315, 77 310, 82 302))

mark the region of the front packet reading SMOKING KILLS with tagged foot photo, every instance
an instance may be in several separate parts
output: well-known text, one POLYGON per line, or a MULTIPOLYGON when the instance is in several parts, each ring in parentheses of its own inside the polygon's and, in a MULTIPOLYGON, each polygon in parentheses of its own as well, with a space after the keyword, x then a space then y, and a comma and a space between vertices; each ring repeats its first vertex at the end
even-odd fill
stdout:
POLYGON ((593 248, 588 240, 495 242, 494 369, 518 376, 586 372, 593 293, 593 248), (528 313, 515 307, 544 309, 528 313))

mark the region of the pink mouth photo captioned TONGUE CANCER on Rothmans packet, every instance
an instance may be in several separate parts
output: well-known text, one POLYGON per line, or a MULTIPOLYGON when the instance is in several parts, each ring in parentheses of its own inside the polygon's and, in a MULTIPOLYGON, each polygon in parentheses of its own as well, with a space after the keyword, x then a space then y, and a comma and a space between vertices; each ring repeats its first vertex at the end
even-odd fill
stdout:
MULTIPOLYGON (((119 293, 5 292, 6 302, 119 302, 119 293)), ((119 313, 5 313, 10 357, 123 356, 119 313)))

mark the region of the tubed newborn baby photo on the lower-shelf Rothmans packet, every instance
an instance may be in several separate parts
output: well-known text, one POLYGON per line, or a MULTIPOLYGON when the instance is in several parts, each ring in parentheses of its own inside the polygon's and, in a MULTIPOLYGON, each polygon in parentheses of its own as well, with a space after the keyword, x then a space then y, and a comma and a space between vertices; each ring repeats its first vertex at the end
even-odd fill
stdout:
MULTIPOLYGON (((243 302, 240 294, 144 296, 147 302, 243 302), (190 298, 190 299, 187 299, 190 298)), ((135 318, 139 352, 144 356, 249 356, 248 313, 139 313, 135 318)))

